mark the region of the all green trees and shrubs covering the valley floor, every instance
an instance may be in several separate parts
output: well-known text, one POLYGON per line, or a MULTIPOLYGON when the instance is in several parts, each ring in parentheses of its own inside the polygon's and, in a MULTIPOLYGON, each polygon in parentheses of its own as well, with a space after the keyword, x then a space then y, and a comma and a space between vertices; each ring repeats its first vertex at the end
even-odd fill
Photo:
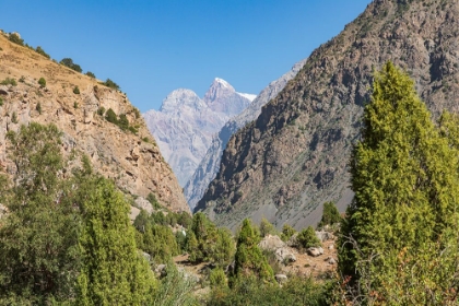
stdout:
MULTIPOLYGON (((126 115, 97 113, 126 125, 126 115)), ((31 122, 7 136, 12 170, 0 176, 0 304, 455 304, 458 137, 459 116, 432 121, 413 81, 387 63, 375 74, 351 156, 354 200, 345 216, 325 203, 318 226, 339 235, 338 271, 319 279, 291 273, 281 282, 281 263, 260 240, 278 235, 306 251, 321 246, 321 233, 289 224, 279 233, 266 219, 259 226, 246 219, 233 236, 203 213, 162 208, 153 193, 152 212, 131 222, 131 196, 95 174, 87 156, 66 158, 56 126, 31 122), (178 255, 201 266, 202 278, 177 267, 178 255)))

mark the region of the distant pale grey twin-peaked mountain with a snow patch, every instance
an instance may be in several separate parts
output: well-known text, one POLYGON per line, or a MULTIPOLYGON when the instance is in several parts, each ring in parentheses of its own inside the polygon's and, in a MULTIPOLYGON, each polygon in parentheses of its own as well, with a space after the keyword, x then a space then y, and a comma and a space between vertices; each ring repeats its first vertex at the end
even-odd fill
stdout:
POLYGON ((216 78, 201 99, 190 90, 176 90, 161 109, 143 117, 181 186, 188 181, 212 143, 212 137, 233 116, 243 111, 255 95, 237 93, 216 78))

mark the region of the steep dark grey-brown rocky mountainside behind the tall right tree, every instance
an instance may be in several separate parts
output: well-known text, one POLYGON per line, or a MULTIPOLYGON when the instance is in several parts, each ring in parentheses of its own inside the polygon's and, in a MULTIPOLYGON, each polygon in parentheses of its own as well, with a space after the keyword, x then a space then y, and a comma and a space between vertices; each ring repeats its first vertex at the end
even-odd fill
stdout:
POLYGON ((415 80, 434 117, 458 111, 458 21, 456 0, 373 1, 231 138, 197 210, 231 228, 264 216, 297 229, 316 224, 326 201, 344 211, 372 71, 391 60, 415 80))

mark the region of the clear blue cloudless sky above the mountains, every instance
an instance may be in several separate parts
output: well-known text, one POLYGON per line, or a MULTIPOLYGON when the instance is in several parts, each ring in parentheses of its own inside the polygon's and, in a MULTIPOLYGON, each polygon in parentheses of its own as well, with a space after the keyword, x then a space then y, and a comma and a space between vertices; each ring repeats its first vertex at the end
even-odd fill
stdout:
POLYGON ((120 85, 142 113, 214 78, 258 94, 370 0, 14 0, 0 28, 120 85))

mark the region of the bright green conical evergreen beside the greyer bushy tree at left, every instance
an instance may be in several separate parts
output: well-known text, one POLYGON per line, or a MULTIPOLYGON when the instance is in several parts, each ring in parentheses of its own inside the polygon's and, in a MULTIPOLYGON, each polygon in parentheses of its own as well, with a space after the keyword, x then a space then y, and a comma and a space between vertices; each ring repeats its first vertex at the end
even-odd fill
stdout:
POLYGON ((114 184, 95 177, 82 195, 80 305, 146 305, 154 279, 139 255, 129 205, 114 184))

